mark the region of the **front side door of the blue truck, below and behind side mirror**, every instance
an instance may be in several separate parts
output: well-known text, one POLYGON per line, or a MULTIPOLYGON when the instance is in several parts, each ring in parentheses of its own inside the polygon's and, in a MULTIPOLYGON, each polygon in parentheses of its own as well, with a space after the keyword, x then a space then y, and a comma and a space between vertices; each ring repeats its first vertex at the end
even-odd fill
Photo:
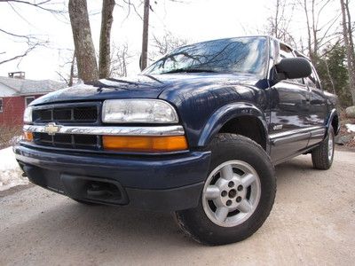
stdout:
MULTIPOLYGON (((292 57, 296 57, 294 53, 280 44, 280 58, 292 57)), ((311 137, 307 130, 311 95, 303 79, 278 82, 270 92, 271 157, 277 163, 307 147, 311 137)))

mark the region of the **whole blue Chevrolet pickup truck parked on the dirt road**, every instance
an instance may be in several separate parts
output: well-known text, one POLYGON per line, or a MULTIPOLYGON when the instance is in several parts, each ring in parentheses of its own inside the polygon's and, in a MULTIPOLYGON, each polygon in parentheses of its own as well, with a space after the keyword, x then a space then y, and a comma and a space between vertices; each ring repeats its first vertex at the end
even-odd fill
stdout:
POLYGON ((177 48, 134 78, 36 99, 14 147, 29 180, 83 204, 168 211, 193 239, 248 238, 272 210, 274 166, 330 168, 336 98, 270 36, 177 48))

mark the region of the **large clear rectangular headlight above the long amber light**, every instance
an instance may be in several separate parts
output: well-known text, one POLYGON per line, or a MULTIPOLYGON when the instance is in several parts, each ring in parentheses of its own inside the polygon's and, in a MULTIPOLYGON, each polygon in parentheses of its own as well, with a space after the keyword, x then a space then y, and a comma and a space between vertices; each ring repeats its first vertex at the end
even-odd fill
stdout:
POLYGON ((102 108, 102 121, 106 123, 177 123, 173 106, 154 99, 106 100, 102 108))

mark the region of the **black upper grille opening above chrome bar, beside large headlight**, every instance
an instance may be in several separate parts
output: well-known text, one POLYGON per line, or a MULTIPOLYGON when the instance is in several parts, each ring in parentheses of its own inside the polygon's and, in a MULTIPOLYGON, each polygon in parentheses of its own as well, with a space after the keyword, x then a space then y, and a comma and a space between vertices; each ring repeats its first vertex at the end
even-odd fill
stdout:
POLYGON ((98 121, 98 106, 52 107, 35 109, 35 123, 95 123, 98 121))

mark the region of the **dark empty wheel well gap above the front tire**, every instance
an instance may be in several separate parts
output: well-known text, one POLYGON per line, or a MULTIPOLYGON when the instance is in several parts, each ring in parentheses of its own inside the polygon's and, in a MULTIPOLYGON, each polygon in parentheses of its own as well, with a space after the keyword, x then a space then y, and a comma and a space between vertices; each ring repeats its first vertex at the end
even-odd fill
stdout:
POLYGON ((262 121, 255 116, 240 116, 227 121, 218 133, 232 133, 254 140, 266 150, 266 139, 262 121))

